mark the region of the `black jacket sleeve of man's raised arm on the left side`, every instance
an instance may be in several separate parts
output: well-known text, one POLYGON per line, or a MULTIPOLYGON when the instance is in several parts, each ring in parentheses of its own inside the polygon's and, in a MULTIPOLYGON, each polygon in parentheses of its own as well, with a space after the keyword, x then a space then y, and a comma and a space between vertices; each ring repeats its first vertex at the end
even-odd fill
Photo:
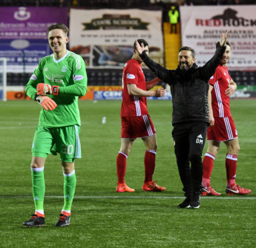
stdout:
POLYGON ((147 65, 147 67, 149 67, 149 69, 151 69, 151 71, 153 71, 153 73, 155 73, 155 75, 159 77, 159 79, 161 79, 165 83, 170 83, 171 70, 168 70, 165 67, 159 65, 158 63, 155 63, 155 61, 153 61, 149 58, 149 56, 147 56, 145 51, 141 53, 140 57, 143 60, 143 62, 147 65))

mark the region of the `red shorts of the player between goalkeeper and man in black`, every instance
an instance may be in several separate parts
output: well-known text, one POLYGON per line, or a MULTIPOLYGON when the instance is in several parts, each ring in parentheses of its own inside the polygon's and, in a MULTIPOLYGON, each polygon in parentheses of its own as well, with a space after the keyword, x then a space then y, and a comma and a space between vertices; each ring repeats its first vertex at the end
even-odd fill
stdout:
POLYGON ((121 117, 121 138, 137 139, 155 134, 155 127, 149 115, 121 117))

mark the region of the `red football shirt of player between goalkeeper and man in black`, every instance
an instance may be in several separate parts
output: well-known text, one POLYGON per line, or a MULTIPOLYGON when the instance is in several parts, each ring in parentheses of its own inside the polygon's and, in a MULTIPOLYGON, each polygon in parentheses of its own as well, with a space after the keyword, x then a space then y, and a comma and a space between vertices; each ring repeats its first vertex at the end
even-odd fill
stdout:
POLYGON ((138 88, 146 90, 145 75, 141 64, 135 59, 127 61, 123 67, 123 101, 121 106, 122 117, 147 115, 147 97, 129 95, 127 85, 134 83, 138 88))

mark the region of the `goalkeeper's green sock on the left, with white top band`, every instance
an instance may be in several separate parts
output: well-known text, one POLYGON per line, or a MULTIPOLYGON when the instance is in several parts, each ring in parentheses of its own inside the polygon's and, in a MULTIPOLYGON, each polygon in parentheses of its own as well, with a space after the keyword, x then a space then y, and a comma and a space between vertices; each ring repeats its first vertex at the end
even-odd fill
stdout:
POLYGON ((31 168, 32 193, 35 203, 35 209, 43 210, 43 199, 45 197, 45 177, 44 167, 31 168))

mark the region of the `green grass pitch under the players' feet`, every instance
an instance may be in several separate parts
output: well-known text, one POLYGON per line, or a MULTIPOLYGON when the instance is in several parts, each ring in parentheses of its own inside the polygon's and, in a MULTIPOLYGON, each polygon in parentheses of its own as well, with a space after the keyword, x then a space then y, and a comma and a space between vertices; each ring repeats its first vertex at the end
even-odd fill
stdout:
POLYGON ((128 157, 126 175, 127 184, 136 191, 115 192, 120 106, 121 101, 79 101, 83 157, 75 161, 71 225, 54 227, 63 207, 63 175, 59 156, 49 155, 45 227, 27 229, 22 223, 34 211, 31 143, 41 107, 34 101, 0 102, 0 247, 255 247, 256 100, 231 101, 241 147, 237 183, 253 192, 225 194, 222 144, 212 174, 212 186, 222 195, 201 197, 200 209, 177 208, 183 192, 171 137, 171 101, 148 101, 158 141, 153 179, 166 191, 141 189, 145 147, 138 139, 128 157))

